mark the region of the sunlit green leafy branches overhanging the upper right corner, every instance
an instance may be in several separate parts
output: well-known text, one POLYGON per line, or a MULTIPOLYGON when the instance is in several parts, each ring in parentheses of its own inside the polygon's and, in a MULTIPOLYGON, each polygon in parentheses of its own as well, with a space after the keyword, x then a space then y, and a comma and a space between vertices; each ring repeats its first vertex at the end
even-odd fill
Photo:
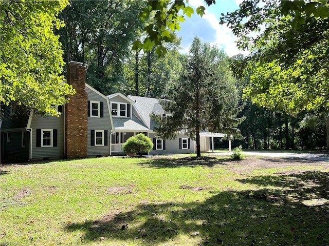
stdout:
POLYGON ((329 2, 247 0, 221 18, 251 54, 233 64, 251 74, 245 97, 296 115, 329 110, 329 2), (260 32, 258 32, 260 31, 260 32), (256 32, 256 33, 255 33, 256 32))

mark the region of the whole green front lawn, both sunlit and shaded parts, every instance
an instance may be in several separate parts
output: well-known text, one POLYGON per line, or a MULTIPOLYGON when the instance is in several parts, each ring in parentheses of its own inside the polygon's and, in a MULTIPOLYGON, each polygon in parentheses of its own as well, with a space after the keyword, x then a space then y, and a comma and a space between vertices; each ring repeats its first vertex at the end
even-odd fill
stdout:
POLYGON ((329 244, 329 167, 222 158, 3 166, 0 245, 329 244))

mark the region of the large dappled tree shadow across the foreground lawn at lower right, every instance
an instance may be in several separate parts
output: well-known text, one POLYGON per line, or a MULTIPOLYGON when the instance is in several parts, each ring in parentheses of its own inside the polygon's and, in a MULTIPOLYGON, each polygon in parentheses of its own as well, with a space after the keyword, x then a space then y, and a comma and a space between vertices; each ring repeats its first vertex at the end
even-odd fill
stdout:
POLYGON ((85 243, 111 239, 156 245, 184 234, 200 245, 328 245, 328 175, 304 172, 243 179, 239 181, 258 185, 259 190, 210 191, 214 195, 205 201, 139 204, 133 211, 65 229, 84 230, 85 243))

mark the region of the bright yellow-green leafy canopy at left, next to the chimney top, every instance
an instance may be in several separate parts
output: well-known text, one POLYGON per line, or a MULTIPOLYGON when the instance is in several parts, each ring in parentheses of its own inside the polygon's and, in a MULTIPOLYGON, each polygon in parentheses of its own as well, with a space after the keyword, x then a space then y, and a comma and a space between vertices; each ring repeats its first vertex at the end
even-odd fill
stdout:
POLYGON ((68 1, 0 0, 0 103, 48 115, 67 103, 74 89, 64 81, 62 49, 53 30, 68 1))

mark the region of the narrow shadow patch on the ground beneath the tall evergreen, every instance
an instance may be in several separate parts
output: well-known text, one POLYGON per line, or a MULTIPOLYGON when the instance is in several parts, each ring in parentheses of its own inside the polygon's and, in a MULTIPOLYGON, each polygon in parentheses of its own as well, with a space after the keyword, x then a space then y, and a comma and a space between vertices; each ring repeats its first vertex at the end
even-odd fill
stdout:
POLYGON ((157 158, 148 159, 140 163, 141 166, 148 166, 150 168, 179 168, 179 167, 195 167, 207 166, 213 167, 215 165, 228 165, 224 161, 236 161, 233 159, 217 159, 216 157, 202 156, 196 157, 183 157, 183 158, 157 158))

